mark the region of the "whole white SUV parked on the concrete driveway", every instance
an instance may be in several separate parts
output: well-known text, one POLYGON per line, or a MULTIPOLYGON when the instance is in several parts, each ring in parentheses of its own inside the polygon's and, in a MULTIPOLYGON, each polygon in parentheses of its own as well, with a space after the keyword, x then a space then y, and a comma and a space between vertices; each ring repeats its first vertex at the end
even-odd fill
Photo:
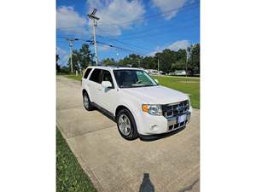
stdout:
POLYGON ((82 93, 84 108, 111 115, 127 140, 183 128, 192 111, 189 96, 160 86, 137 68, 87 67, 82 93))

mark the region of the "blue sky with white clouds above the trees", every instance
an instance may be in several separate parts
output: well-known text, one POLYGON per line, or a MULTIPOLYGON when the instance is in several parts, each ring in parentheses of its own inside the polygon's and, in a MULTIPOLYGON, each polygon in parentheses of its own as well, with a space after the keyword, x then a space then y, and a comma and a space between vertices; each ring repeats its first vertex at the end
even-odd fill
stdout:
MULTIPOLYGON (((100 18, 96 26, 99 61, 186 49, 200 42, 200 0, 56 0, 56 51, 61 66, 67 65, 69 57, 67 38, 79 38, 73 49, 93 39, 87 14, 94 8, 100 18)), ((90 50, 95 51, 92 44, 90 50)))

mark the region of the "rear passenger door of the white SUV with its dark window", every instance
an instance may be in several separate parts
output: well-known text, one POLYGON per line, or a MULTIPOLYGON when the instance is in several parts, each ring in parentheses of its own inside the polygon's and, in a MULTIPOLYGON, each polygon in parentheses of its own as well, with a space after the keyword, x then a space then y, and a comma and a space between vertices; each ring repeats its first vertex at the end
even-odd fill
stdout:
POLYGON ((99 92, 102 90, 102 69, 95 68, 90 74, 88 82, 90 90, 90 101, 100 104, 99 92))

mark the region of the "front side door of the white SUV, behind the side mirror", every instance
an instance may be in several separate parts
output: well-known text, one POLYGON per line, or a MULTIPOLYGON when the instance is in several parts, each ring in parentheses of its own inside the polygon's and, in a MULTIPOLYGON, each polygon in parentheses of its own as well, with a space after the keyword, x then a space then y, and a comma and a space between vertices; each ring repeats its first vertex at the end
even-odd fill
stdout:
POLYGON ((108 110, 108 112, 113 113, 114 102, 116 101, 117 91, 113 84, 113 77, 108 70, 102 70, 102 81, 109 81, 112 84, 111 88, 103 88, 99 91, 99 105, 108 110))

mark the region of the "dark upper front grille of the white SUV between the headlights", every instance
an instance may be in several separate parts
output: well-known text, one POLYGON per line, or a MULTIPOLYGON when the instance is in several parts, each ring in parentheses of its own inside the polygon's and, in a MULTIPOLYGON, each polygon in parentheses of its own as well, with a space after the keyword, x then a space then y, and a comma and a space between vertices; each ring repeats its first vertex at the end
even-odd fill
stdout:
POLYGON ((176 117, 189 111, 189 100, 162 105, 162 110, 166 118, 176 117))

